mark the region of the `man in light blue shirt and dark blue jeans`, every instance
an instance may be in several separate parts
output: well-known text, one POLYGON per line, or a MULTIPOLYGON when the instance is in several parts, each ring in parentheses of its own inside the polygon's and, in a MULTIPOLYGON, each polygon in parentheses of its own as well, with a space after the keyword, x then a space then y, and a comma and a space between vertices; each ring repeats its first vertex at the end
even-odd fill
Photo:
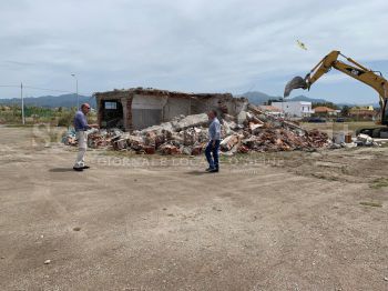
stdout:
POLYGON ((217 119, 217 112, 215 110, 211 110, 207 113, 207 117, 211 121, 211 126, 208 127, 210 141, 205 150, 206 160, 208 162, 208 168, 206 169, 206 172, 216 173, 219 171, 218 149, 221 140, 221 124, 217 119))

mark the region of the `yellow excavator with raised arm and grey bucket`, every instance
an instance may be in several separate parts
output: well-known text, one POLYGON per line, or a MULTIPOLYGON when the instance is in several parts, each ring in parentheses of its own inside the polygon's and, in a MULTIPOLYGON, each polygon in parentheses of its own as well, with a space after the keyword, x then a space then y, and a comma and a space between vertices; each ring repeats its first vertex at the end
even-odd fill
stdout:
POLYGON ((386 137, 388 134, 388 81, 382 77, 381 72, 372 71, 355 60, 341 54, 339 51, 331 51, 327 54, 305 78, 295 77, 285 88, 284 97, 288 97, 294 89, 309 90, 321 76, 329 72, 331 68, 346 73, 347 76, 366 83, 374 88, 379 94, 380 120, 377 122, 386 127, 374 127, 358 129, 358 133, 365 133, 372 138, 386 137), (349 63, 338 60, 339 57, 345 58, 349 63), (384 133, 382 133, 384 132, 384 133), (382 133, 382 134, 381 134, 382 133))

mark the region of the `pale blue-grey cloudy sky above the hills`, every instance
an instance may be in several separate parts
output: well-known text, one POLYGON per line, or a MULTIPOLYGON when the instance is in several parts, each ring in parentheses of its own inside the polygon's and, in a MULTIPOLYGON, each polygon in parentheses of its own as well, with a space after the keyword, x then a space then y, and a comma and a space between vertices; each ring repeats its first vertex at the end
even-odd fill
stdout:
MULTIPOLYGON (((388 76, 386 0, 1 0, 0 98, 132 87, 283 96, 331 50, 388 76), (297 46, 304 42, 307 50, 297 46)), ((376 103, 335 70, 305 94, 376 103)))

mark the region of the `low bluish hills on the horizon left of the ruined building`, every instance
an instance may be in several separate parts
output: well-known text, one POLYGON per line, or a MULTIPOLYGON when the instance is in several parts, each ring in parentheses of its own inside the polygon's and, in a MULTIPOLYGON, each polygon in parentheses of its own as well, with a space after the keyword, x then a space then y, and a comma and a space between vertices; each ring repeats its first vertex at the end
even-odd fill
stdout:
MULTIPOLYGON (((95 108, 95 99, 88 96, 79 96, 80 104, 90 103, 92 108, 95 108)), ((20 98, 0 99, 0 104, 12 106, 20 104, 20 98)), ((45 108, 72 108, 76 106, 75 94, 62 94, 62 96, 42 96, 42 97, 28 97, 24 98, 25 106, 45 107, 45 108)))

